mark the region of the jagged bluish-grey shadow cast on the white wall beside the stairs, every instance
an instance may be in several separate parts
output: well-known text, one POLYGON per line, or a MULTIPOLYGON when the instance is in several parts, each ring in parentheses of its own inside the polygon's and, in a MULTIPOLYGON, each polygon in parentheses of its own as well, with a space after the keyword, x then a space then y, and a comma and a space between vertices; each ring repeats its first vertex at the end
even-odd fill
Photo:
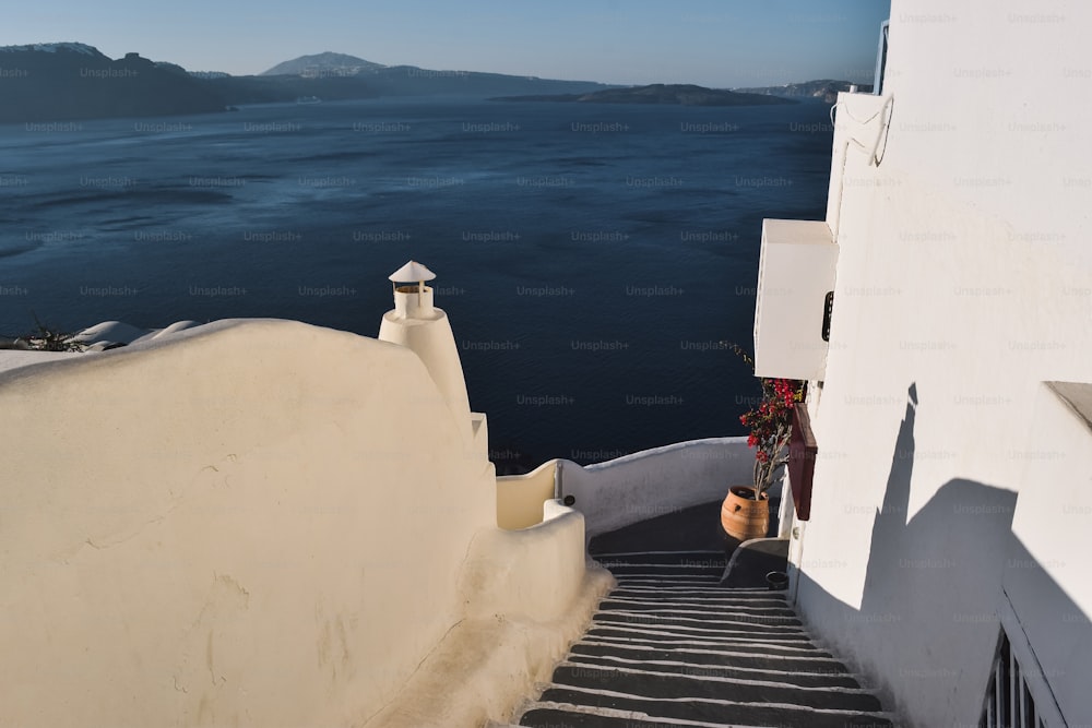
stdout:
MULTIPOLYGON (((1017 493, 957 478, 906 520, 916 408, 912 384, 873 525, 860 609, 810 578, 806 558, 800 608, 816 636, 878 678, 886 706, 912 725, 977 725, 998 644, 1006 569, 1035 571, 1059 629, 1063 614, 1082 612, 1012 533, 1017 493)), ((1092 645, 1087 616, 1068 622, 1067 636, 1092 645)), ((1047 670, 1046 677, 1079 679, 1068 670, 1047 670)))

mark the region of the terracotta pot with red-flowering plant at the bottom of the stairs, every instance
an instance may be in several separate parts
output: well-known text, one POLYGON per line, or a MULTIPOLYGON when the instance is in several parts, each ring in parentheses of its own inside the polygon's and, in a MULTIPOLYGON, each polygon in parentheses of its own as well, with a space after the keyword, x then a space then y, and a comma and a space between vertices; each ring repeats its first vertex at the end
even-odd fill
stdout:
MULTIPOLYGON (((755 360, 738 346, 732 347, 755 369, 755 360)), ((769 494, 774 476, 788 462, 788 438, 793 407, 804 399, 805 382, 763 377, 758 406, 744 413, 739 421, 749 430, 747 445, 755 449, 753 484, 733 486, 721 505, 724 533, 740 541, 765 536, 770 527, 769 494)))

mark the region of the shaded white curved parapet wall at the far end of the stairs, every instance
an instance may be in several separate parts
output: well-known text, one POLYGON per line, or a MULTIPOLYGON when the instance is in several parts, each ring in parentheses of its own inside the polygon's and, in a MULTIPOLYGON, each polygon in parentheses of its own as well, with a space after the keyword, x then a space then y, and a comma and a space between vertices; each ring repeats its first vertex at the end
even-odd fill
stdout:
POLYGON ((560 496, 584 514, 587 536, 724 498, 753 482, 747 438, 691 440, 581 466, 559 461, 560 496))

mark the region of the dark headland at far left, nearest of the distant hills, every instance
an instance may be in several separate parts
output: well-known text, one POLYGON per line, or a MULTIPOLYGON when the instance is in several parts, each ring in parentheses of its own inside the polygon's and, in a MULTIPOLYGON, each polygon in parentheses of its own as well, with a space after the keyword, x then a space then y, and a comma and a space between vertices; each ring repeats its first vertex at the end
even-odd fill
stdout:
POLYGON ((0 122, 222 111, 219 93, 178 65, 110 60, 81 43, 0 47, 0 122))

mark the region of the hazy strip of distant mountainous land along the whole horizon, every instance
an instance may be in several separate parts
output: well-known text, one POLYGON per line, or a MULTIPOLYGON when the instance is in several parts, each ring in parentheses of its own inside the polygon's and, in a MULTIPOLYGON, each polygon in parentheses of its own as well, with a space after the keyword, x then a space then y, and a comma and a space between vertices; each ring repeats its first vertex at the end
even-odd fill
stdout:
MULTIPOLYGON (((0 123, 181 116, 246 104, 443 97, 575 104, 758 106, 834 100, 846 81, 739 88, 690 84, 620 87, 591 81, 383 65, 345 53, 300 56, 258 75, 188 71, 139 53, 112 60, 82 43, 0 47, 0 123)), ((862 86, 860 91, 867 91, 862 86)))

